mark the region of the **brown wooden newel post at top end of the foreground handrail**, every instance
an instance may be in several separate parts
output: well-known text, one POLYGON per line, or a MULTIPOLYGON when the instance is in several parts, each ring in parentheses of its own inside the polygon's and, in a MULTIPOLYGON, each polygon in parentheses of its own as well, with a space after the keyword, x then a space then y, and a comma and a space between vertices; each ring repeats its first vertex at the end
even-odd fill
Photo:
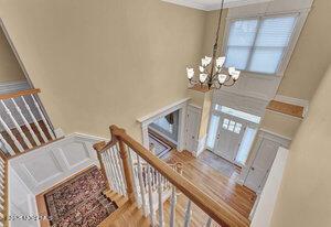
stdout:
POLYGON ((128 198, 131 203, 136 202, 135 197, 135 191, 134 191, 134 177, 132 177, 132 172, 130 170, 130 164, 129 164, 129 159, 128 159, 128 151, 126 149, 125 142, 121 139, 121 136, 126 134, 126 131, 124 129, 119 129, 117 127, 110 127, 110 133, 111 137, 116 137, 119 145, 119 154, 120 159, 122 161, 122 169, 124 169, 124 174, 126 177, 126 184, 127 184, 127 193, 128 193, 128 198))

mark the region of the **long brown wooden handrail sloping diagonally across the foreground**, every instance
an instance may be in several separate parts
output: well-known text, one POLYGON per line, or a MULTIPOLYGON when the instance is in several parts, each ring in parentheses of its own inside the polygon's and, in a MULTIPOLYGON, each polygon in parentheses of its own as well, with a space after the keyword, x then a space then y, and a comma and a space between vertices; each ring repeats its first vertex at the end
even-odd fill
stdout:
POLYGON ((139 156, 152 165, 163 176, 168 179, 177 188, 179 188, 189 199, 197 205, 203 212, 205 212, 211 218, 213 218, 222 227, 236 226, 236 227, 248 227, 249 220, 241 215, 237 210, 232 208, 225 202, 215 202, 210 196, 204 194, 194 184, 184 179, 182 175, 177 173, 166 162, 158 159, 139 142, 134 140, 126 133, 125 130, 111 126, 111 137, 126 143, 139 156))

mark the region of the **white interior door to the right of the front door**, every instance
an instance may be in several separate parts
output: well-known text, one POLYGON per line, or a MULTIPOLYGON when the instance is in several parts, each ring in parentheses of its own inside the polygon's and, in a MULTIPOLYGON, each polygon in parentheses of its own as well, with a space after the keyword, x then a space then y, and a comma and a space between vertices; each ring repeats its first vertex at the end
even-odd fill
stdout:
POLYGON ((263 188, 279 145, 279 143, 268 139, 261 141, 244 185, 254 192, 259 192, 263 188))

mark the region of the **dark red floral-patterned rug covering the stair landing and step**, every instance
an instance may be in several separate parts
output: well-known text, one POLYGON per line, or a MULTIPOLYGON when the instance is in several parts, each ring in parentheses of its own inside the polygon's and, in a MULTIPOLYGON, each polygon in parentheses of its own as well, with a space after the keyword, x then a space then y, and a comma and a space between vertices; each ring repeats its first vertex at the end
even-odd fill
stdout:
POLYGON ((100 171, 93 166, 45 194, 52 227, 96 227, 117 205, 103 195, 100 171))

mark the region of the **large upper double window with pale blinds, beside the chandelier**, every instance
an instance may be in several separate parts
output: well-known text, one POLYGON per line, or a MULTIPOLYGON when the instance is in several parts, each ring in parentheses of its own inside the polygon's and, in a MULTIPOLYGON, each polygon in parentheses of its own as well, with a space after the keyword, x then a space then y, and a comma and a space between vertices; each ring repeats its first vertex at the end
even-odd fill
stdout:
POLYGON ((297 14, 235 20, 229 25, 225 66, 277 74, 295 29, 297 14))

